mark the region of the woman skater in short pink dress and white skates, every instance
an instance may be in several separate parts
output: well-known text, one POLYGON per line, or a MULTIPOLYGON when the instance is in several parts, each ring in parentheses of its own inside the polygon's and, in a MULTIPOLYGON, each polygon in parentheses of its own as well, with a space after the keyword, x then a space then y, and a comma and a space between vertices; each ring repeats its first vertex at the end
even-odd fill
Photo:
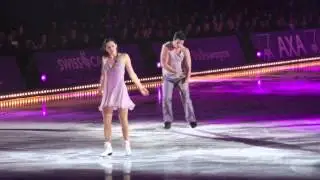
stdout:
POLYGON ((104 152, 101 156, 112 155, 111 124, 114 110, 119 112, 126 154, 131 155, 128 137, 128 110, 133 110, 135 104, 130 99, 124 82, 125 69, 142 95, 149 95, 149 91, 140 83, 132 68, 129 55, 127 53, 119 53, 115 41, 111 39, 105 40, 103 42, 103 52, 100 79, 102 100, 99 110, 103 115, 105 143, 104 152))

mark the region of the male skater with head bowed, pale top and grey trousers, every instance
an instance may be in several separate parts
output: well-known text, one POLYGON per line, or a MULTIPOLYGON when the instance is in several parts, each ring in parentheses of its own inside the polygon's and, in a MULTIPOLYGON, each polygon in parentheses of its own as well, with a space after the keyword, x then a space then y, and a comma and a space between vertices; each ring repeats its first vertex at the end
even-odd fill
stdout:
POLYGON ((170 129, 173 121, 172 93, 175 87, 180 91, 185 118, 192 128, 197 126, 189 93, 191 76, 191 55, 183 44, 186 35, 182 31, 174 34, 173 40, 162 45, 160 61, 162 67, 162 113, 164 128, 170 129))

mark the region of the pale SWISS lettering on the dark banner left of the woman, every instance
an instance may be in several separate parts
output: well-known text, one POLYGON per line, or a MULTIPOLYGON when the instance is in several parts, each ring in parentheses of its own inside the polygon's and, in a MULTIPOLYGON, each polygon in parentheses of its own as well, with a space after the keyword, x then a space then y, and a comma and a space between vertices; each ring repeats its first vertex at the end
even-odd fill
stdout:
POLYGON ((57 64, 60 72, 96 69, 101 65, 101 57, 87 56, 85 51, 80 51, 79 56, 58 58, 57 64))

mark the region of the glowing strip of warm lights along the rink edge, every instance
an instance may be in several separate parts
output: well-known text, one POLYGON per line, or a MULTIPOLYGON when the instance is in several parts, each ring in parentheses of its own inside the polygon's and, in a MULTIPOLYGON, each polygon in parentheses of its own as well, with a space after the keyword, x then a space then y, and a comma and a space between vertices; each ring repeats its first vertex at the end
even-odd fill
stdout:
MULTIPOLYGON (((192 73, 190 83, 198 82, 206 78, 211 80, 227 79, 232 77, 252 76, 257 74, 267 74, 277 71, 283 71, 292 68, 304 68, 320 65, 320 57, 297 59, 292 61, 274 62, 258 65, 249 65, 233 68, 224 68, 217 70, 209 70, 192 73)), ((162 77, 142 78, 141 82, 148 88, 158 88, 161 86, 162 77)), ((136 85, 132 81, 126 81, 129 91, 137 90, 136 85)), ((26 92, 19 94, 0 96, 0 108, 15 108, 31 104, 44 103, 49 101, 66 100, 80 97, 98 96, 99 84, 91 84, 84 86, 76 86, 61 89, 42 90, 34 92, 26 92), (55 93, 55 94, 54 94, 55 93)))

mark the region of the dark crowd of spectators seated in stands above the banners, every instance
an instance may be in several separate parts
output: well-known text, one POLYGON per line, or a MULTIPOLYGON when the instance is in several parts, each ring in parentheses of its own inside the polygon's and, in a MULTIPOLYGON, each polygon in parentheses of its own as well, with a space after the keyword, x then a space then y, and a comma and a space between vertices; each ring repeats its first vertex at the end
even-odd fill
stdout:
POLYGON ((32 2, 19 1, 19 5, 11 6, 16 24, 13 29, 0 30, 1 54, 22 47, 33 51, 99 47, 106 36, 123 43, 164 41, 178 29, 197 38, 320 25, 317 0, 32 2))

